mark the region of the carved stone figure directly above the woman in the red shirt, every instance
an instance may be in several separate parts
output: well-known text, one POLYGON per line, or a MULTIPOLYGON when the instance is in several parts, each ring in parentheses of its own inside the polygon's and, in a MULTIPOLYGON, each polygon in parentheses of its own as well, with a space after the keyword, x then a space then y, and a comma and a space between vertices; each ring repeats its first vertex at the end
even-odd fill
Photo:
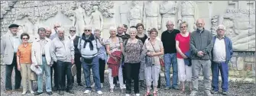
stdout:
POLYGON ((196 30, 196 19, 197 19, 197 5, 193 1, 183 1, 178 9, 178 26, 181 21, 186 21, 189 25, 187 30, 192 32, 196 30))

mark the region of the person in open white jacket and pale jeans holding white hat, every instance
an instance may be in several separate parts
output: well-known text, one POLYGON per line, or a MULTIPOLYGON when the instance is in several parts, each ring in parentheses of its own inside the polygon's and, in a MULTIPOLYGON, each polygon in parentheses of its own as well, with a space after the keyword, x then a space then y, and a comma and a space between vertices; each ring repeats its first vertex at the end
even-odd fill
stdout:
MULTIPOLYGON (((51 56, 50 56, 50 46, 51 40, 46 36, 46 30, 44 27, 38 29, 37 34, 39 38, 34 40, 32 43, 32 50, 31 50, 31 58, 33 65, 41 67, 43 72, 45 73, 46 77, 46 91, 47 94, 53 94, 51 92, 51 80, 50 80, 50 66, 53 65, 51 56)), ((43 93, 43 75, 37 75, 37 85, 38 89, 34 95, 42 94, 43 93)))

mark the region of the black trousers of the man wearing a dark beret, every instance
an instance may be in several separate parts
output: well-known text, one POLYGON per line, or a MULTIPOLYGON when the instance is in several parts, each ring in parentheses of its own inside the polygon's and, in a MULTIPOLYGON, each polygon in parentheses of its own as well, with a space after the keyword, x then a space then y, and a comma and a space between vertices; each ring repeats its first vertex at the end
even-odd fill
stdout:
POLYGON ((16 53, 14 53, 14 57, 12 59, 11 65, 5 66, 5 89, 6 90, 12 90, 11 73, 12 73, 13 67, 15 67, 15 89, 18 89, 21 87, 21 72, 18 71, 16 53))

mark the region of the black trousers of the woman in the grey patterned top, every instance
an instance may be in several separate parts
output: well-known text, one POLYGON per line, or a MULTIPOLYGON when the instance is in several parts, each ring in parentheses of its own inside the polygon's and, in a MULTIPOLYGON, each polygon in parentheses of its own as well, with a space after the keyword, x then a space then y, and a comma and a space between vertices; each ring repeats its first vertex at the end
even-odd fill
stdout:
POLYGON ((125 63, 126 71, 126 94, 131 94, 131 79, 134 80, 134 93, 139 93, 138 74, 140 72, 141 63, 125 63))

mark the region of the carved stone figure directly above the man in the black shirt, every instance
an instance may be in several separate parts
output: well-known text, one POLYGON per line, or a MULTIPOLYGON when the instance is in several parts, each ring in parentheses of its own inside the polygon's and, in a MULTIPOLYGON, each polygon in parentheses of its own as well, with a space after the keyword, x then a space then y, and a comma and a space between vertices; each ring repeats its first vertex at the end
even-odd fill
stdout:
MULTIPOLYGON (((162 14, 162 27, 161 27, 162 32, 167 30, 167 27, 166 27, 167 21, 170 20, 170 21, 173 21, 174 24, 176 24, 176 22, 177 22, 177 20, 175 18, 176 13, 177 13, 177 2, 164 1, 160 5, 160 14, 162 14)), ((174 27, 176 28, 177 26, 174 26, 174 27)))

